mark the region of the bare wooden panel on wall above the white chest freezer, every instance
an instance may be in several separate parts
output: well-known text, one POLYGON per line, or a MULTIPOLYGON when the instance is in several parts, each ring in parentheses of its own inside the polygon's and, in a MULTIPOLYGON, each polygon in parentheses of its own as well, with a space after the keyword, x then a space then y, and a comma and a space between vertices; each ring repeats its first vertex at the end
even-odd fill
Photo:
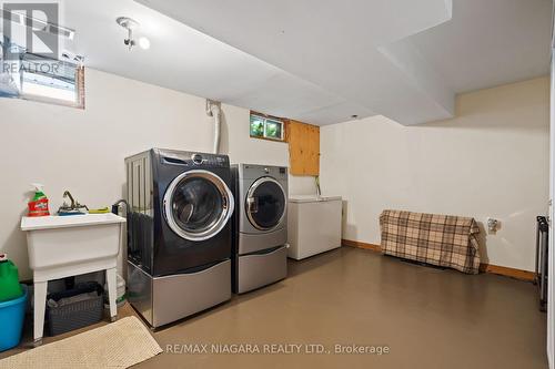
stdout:
POLYGON ((320 175, 320 127, 287 122, 289 163, 293 175, 320 175))

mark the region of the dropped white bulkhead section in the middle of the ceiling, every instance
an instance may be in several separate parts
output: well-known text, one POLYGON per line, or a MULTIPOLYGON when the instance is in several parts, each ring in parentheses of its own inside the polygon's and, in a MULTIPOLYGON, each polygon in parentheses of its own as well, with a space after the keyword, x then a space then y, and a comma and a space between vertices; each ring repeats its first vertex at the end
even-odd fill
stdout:
MULTIPOLYGON (((401 123, 451 116, 379 48, 450 19, 445 0, 139 0, 401 123)), ((366 115, 353 111, 351 114, 366 115)), ((319 122, 316 122, 319 123, 319 122)))

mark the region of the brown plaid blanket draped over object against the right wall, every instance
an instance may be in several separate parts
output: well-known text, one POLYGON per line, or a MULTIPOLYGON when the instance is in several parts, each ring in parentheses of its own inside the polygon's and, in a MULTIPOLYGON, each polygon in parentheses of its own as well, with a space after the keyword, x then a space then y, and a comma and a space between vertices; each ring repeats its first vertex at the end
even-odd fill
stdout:
POLYGON ((382 253, 477 274, 480 233, 474 218, 384 211, 380 215, 382 253))

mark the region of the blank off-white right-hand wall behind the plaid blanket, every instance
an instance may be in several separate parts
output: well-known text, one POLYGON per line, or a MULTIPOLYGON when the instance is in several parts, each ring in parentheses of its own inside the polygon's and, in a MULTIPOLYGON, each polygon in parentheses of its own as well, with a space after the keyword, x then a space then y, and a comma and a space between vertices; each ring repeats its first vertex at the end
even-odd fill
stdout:
POLYGON ((452 120, 323 126, 321 151, 322 191, 345 199, 343 238, 379 244, 384 208, 492 216, 501 228, 482 227, 484 262, 534 269, 549 188, 548 78, 462 94, 452 120))

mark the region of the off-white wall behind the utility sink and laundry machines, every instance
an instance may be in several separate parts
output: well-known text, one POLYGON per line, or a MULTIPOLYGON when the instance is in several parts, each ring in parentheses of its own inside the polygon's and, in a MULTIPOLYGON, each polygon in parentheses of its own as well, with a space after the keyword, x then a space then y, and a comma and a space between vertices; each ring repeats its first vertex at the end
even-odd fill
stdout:
MULTIPOLYGON (((212 119, 204 99, 87 70, 84 111, 0 99, 0 252, 31 277, 19 230, 32 182, 56 212, 64 189, 90 207, 123 196, 123 158, 150 147, 209 152, 212 119)), ((285 143, 249 137, 249 111, 223 105, 221 150, 232 162, 287 165, 285 143)), ((314 193, 312 177, 291 177, 291 194, 314 193)))

